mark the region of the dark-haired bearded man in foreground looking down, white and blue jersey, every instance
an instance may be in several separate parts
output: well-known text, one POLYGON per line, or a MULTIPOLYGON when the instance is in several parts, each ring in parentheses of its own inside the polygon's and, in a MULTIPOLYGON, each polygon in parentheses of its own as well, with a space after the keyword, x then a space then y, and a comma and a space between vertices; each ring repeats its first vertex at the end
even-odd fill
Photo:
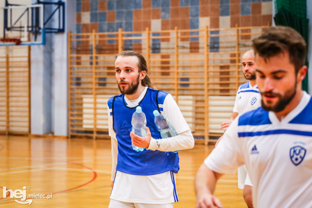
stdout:
POLYGON ((255 208, 312 207, 312 98, 302 91, 306 43, 289 27, 253 41, 260 108, 237 116, 195 177, 197 208, 222 207, 217 180, 245 164, 255 208))

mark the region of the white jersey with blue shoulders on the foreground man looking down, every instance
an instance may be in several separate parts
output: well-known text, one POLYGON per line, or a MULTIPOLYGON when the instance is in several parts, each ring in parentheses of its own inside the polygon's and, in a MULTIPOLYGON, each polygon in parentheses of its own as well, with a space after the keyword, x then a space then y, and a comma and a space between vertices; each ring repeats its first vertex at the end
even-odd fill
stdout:
POLYGON ((258 108, 238 116, 205 164, 219 173, 235 173, 246 164, 253 182, 254 207, 312 207, 312 98, 282 121, 258 108))

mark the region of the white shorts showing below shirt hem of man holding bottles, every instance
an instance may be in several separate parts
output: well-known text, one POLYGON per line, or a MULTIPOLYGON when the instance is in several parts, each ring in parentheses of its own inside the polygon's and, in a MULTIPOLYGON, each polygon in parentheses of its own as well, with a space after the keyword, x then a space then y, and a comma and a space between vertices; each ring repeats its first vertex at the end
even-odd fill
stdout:
POLYGON ((111 199, 108 208, 173 208, 173 203, 169 204, 140 204, 116 201, 111 199))

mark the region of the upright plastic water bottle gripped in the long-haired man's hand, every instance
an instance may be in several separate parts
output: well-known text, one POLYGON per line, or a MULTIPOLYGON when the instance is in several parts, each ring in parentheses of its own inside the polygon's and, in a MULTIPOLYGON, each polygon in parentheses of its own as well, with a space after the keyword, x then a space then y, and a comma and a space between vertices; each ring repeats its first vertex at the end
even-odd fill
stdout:
MULTIPOLYGON (((142 108, 140 106, 136 107, 135 112, 132 115, 132 129, 131 131, 138 136, 144 137, 146 135, 146 117, 145 114, 142 112, 142 108)), ((132 143, 131 143, 132 144, 132 143)), ((143 151, 144 147, 138 147, 132 144, 132 148, 135 151, 143 151)))

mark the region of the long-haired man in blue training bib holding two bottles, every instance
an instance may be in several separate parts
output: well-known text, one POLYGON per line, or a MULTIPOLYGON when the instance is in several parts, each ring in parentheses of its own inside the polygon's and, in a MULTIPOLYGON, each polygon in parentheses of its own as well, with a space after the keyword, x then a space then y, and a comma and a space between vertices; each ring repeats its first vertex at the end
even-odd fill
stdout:
POLYGON ((112 143, 112 192, 109 208, 173 208, 179 201, 175 174, 178 153, 193 148, 194 138, 173 97, 153 89, 144 57, 134 51, 120 52, 115 75, 120 95, 108 101, 108 125, 112 143), (131 118, 137 106, 146 115, 147 134, 131 132, 131 118), (165 115, 177 136, 162 139, 154 124, 153 111, 165 115), (143 151, 135 151, 131 142, 143 151))

